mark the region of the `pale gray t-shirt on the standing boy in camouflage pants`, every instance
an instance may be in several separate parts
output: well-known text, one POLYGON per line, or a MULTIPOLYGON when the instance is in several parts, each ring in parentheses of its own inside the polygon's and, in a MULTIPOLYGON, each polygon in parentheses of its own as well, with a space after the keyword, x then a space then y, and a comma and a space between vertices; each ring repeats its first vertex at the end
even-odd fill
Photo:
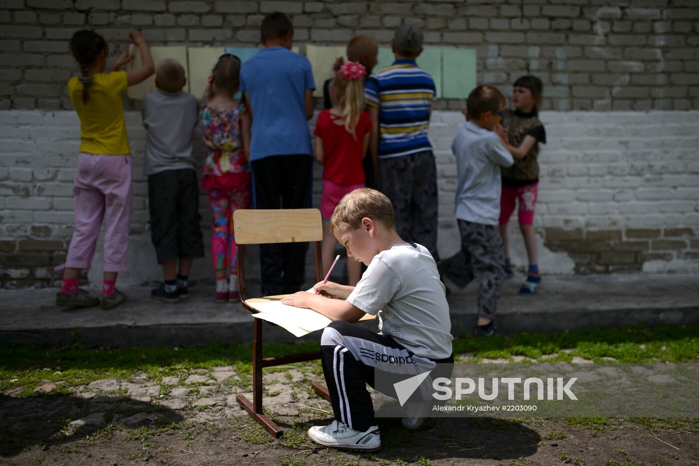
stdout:
POLYGON ((500 218, 500 167, 514 159, 498 135, 473 122, 459 128, 452 143, 459 184, 456 187, 456 218, 483 225, 498 225, 500 218))

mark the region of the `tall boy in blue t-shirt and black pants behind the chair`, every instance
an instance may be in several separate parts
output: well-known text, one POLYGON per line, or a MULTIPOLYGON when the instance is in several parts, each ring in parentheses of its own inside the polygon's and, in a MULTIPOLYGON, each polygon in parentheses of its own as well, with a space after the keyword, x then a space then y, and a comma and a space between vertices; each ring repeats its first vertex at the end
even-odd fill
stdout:
MULTIPOLYGON (((313 116, 313 73, 308 58, 291 52, 294 27, 284 13, 264 17, 264 50, 240 70, 240 91, 252 114, 252 206, 310 207, 313 157, 308 120, 313 116)), ((282 295, 303 285, 308 243, 260 246, 262 292, 282 295)))

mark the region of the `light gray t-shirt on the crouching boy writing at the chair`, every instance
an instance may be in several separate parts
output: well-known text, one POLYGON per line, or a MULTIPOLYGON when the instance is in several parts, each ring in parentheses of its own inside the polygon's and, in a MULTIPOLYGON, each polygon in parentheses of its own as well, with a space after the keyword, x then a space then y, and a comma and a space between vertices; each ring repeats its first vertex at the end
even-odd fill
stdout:
POLYGON ((347 301, 379 316, 382 335, 413 354, 445 359, 452 354, 452 320, 444 284, 429 251, 404 243, 373 258, 347 301))

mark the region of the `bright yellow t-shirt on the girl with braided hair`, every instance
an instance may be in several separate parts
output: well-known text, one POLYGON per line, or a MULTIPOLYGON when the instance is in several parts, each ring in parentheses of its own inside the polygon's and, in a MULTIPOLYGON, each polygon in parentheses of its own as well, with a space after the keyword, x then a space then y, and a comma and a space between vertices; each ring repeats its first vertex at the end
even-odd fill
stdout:
POLYGON ((126 71, 92 76, 89 101, 82 103, 82 83, 77 76, 68 81, 68 94, 80 117, 80 152, 126 155, 131 153, 124 121, 122 94, 127 90, 126 71))

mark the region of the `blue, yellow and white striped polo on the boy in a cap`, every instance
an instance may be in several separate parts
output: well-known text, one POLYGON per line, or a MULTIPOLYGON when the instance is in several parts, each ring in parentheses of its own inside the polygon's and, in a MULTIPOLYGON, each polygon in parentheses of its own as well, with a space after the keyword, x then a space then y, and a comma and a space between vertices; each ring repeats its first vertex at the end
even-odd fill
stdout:
POLYGON ((369 78, 364 99, 379 108, 379 158, 432 150, 427 130, 434 98, 432 76, 415 60, 396 60, 369 78))

